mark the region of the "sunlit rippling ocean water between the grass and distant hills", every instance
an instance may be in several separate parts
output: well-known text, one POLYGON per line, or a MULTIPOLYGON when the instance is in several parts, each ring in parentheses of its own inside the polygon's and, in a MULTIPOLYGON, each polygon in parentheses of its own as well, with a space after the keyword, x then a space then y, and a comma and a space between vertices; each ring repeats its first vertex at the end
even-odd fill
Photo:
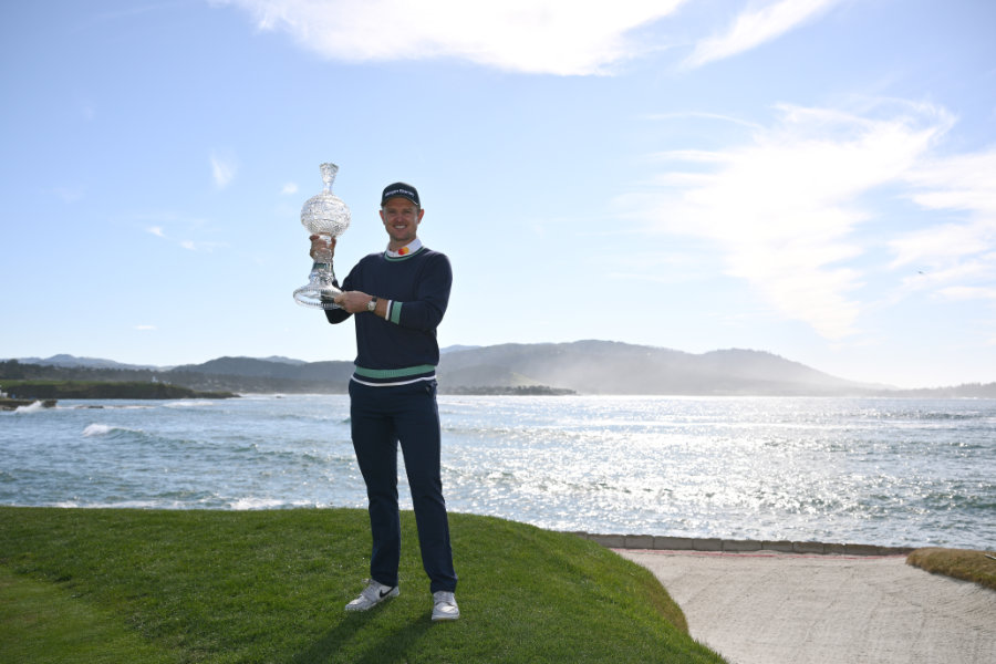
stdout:
MULTIPOLYGON (((450 511, 596 533, 996 547, 996 400, 443 395, 439 411, 450 511)), ((363 508, 365 491, 345 395, 61 401, 0 413, 0 505, 363 508)))

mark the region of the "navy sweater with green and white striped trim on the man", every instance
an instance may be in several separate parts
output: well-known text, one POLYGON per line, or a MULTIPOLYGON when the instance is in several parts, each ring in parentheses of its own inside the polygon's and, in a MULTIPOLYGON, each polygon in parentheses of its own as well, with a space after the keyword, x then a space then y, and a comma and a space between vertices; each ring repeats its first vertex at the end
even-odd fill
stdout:
MULTIPOLYGON (((366 383, 398 383, 435 375, 439 363, 436 328, 446 313, 453 270, 444 253, 422 247, 392 258, 386 252, 365 256, 342 283, 344 291, 362 291, 390 300, 387 318, 357 313, 356 372, 366 383)), ((330 323, 350 313, 326 309, 330 323)))

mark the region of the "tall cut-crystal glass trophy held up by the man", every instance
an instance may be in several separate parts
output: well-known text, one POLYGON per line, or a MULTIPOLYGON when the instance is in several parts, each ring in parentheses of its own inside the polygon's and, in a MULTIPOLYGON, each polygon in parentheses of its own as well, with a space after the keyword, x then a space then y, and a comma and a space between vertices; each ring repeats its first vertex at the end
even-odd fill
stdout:
MULTIPOLYGON (((350 227, 350 208, 332 193, 332 180, 339 173, 335 164, 322 164, 322 181, 325 187, 318 196, 312 196, 301 208, 301 224, 310 235, 331 242, 350 227)), ((335 272, 332 271, 332 251, 323 249, 314 255, 314 264, 308 283, 294 291, 294 301, 311 309, 339 309, 332 298, 342 293, 335 288, 335 272)))

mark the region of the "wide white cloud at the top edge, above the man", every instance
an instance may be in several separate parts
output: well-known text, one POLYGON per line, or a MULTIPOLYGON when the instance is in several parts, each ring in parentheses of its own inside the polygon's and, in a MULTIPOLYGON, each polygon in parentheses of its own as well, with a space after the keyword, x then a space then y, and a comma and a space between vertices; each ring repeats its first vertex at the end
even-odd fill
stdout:
POLYGON ((647 45, 627 33, 685 0, 216 0, 333 60, 458 58, 500 70, 606 73, 647 45))

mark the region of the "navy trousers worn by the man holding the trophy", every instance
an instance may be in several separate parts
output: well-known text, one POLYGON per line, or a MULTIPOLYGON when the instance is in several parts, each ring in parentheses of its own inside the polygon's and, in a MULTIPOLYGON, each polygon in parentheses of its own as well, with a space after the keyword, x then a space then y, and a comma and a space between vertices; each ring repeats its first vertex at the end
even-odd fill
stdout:
POLYGON ((350 381, 350 416, 353 448, 370 502, 371 579, 384 585, 397 585, 401 559, 397 446, 401 443, 429 590, 455 591, 457 577, 439 468, 436 382, 371 387, 350 381))

